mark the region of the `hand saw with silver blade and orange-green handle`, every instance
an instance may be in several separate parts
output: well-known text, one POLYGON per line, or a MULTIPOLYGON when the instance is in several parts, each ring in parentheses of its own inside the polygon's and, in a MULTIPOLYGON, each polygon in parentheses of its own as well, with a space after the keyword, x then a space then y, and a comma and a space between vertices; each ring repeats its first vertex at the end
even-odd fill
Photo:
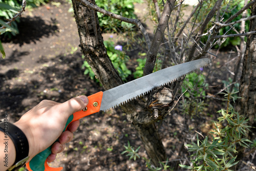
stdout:
MULTIPOLYGON (((175 81, 176 79, 184 76, 196 69, 207 66, 210 63, 210 59, 203 58, 190 62, 181 63, 179 65, 162 69, 152 74, 143 76, 133 81, 124 83, 113 89, 98 92, 88 97, 89 104, 83 110, 71 115, 66 123, 65 129, 68 125, 82 117, 97 113, 99 111, 107 111, 115 108, 116 106, 129 102, 141 95, 152 91, 155 88, 161 87, 175 81)), ((50 167, 47 164, 47 157, 51 154, 51 146, 45 151, 40 152, 32 160, 26 164, 29 171, 58 171, 62 167, 50 167)))

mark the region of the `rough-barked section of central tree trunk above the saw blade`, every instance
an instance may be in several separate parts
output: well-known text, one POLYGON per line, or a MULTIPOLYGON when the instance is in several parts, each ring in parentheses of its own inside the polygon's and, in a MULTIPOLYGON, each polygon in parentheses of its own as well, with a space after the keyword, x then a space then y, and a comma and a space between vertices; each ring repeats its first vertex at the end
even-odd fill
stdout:
POLYGON ((106 54, 97 13, 83 7, 80 2, 72 3, 80 37, 79 46, 86 61, 92 66, 95 76, 105 90, 119 86, 123 82, 106 54))

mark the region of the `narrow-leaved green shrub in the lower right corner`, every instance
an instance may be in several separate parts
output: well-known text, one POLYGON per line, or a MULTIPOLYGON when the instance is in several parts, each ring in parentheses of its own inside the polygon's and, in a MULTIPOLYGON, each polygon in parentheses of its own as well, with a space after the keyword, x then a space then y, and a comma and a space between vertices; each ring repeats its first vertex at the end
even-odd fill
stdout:
POLYGON ((224 93, 225 101, 227 101, 227 109, 219 111, 221 117, 219 122, 215 123, 215 129, 210 132, 210 137, 206 136, 204 140, 200 140, 197 135, 197 142, 187 144, 188 151, 194 152, 191 157, 193 166, 181 165, 181 167, 191 170, 229 170, 230 167, 238 164, 235 153, 238 145, 249 148, 252 143, 246 138, 247 131, 250 127, 247 125, 248 119, 240 116, 230 100, 233 102, 237 99, 233 95, 238 92, 224 93))

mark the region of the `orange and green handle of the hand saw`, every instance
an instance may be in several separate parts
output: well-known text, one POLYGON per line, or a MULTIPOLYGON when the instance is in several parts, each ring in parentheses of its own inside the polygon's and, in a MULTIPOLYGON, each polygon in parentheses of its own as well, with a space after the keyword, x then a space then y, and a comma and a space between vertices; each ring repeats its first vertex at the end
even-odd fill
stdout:
MULTIPOLYGON (((74 122, 82 117, 99 112, 102 95, 103 95, 103 92, 98 92, 91 96, 88 96, 89 103, 88 103, 87 107, 81 111, 74 113, 73 115, 71 115, 69 117, 63 132, 67 130, 67 127, 71 122, 74 122)), ((29 171, 59 171, 59 170, 61 170, 62 167, 55 168, 55 167, 50 167, 47 164, 47 157, 52 153, 51 148, 52 148, 52 145, 49 146, 44 151, 38 153, 35 157, 33 157, 31 159, 31 161, 26 164, 27 169, 29 171)))

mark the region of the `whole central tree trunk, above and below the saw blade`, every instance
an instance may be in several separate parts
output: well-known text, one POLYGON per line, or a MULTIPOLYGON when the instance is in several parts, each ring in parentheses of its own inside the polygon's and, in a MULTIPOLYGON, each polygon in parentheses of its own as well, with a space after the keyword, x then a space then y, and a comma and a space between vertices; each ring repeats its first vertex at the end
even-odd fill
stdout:
MULTIPOLYGON (((95 4, 94 0, 89 2, 95 4)), ((105 90, 119 86, 123 82, 103 45, 97 12, 76 0, 72 0, 72 4, 80 37, 80 47, 85 59, 105 90)), ((150 117, 150 113, 146 111, 145 102, 141 99, 126 103, 121 108, 126 113, 127 119, 135 126, 152 163, 160 166, 159 162, 165 161, 166 155, 154 124, 157 119, 150 117)))

